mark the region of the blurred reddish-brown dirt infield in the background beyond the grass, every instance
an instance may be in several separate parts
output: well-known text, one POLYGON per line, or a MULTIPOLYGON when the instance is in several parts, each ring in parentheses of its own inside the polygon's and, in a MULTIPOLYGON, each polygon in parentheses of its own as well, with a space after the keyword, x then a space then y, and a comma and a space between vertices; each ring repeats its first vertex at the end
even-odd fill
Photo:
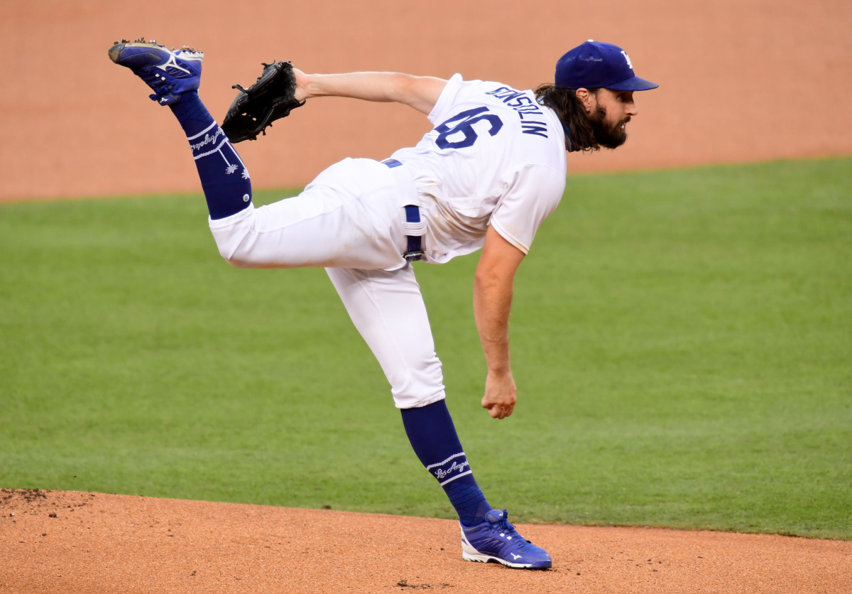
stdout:
MULTIPOLYGON (((107 59, 117 37, 204 49, 201 95, 218 118, 261 61, 527 89, 573 45, 619 43, 661 86, 638 97, 625 147, 569 158, 581 171, 852 153, 850 30, 848 0, 4 3, 0 199, 199 190, 179 126, 107 59)), ((298 186, 430 127, 407 107, 320 99, 239 148, 255 187, 298 186)))

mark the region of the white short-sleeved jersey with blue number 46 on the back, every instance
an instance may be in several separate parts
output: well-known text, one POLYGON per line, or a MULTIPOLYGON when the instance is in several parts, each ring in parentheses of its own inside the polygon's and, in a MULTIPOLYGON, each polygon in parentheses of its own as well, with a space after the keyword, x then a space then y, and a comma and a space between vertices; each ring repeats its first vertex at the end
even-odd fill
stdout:
POLYGON ((525 254, 565 190, 565 133, 532 90, 454 75, 429 113, 435 124, 393 158, 414 177, 431 262, 480 249, 488 225, 525 254))

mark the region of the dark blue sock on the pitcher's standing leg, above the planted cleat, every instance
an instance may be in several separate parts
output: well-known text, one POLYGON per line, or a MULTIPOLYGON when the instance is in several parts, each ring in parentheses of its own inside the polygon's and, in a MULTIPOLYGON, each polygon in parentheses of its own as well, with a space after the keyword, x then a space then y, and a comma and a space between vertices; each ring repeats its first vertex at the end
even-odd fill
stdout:
POLYGON ((485 515, 492 508, 476 484, 446 402, 404 408, 402 424, 417 458, 444 487, 463 525, 470 527, 485 522, 485 515))

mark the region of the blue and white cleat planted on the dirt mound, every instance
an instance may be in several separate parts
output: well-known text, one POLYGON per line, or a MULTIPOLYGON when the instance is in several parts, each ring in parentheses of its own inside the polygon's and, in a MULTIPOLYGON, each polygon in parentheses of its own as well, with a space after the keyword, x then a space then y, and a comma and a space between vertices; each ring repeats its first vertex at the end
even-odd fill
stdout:
POLYGON ((547 569, 553 564, 547 551, 533 545, 509 524, 506 510, 491 510, 485 519, 472 528, 462 526, 465 561, 498 562, 522 569, 547 569))

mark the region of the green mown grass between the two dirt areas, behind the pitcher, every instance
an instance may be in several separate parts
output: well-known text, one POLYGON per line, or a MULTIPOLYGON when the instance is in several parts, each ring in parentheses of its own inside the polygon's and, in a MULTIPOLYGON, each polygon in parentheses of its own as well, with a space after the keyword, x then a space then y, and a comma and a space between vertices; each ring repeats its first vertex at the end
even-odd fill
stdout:
MULTIPOLYGON (((200 194, 0 205, 0 249, 0 486, 454 517, 325 272, 229 267, 200 194)), ((476 260, 417 274, 492 505, 852 539, 852 159, 569 178, 499 422, 476 260)))

